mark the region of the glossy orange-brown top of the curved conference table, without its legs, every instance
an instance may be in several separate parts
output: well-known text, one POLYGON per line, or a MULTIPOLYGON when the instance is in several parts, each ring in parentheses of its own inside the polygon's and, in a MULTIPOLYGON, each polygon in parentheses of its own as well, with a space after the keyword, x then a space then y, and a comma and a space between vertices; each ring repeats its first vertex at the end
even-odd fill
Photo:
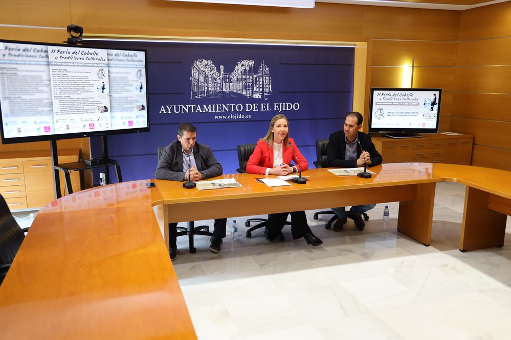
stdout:
MULTIPOLYGON (((242 187, 184 189, 133 181, 73 193, 43 207, 0 286, 2 338, 196 338, 153 206, 241 205, 268 197, 455 181, 511 198, 511 173, 466 165, 391 163, 370 179, 309 169, 304 185, 268 187, 253 174, 223 175, 242 187)), ((353 190, 362 189, 362 190, 353 190)), ((381 191, 381 190, 380 190, 381 191)), ((391 190, 392 191, 392 190, 391 190)), ((398 191, 398 190, 393 190, 398 191)), ((346 195, 345 195, 346 196, 346 195)), ((319 204, 319 203, 318 203, 319 204)), ((319 206, 319 205, 318 205, 319 206)), ((268 207, 269 209, 271 207, 268 207)), ((270 211, 269 211, 270 212, 270 211)))

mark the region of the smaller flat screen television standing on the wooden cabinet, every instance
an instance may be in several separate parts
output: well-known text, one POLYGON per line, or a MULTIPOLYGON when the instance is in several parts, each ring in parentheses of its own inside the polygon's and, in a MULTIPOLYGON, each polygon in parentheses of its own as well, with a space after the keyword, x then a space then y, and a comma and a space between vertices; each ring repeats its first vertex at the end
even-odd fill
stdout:
POLYGON ((438 133, 441 88, 371 88, 369 133, 420 137, 438 133))

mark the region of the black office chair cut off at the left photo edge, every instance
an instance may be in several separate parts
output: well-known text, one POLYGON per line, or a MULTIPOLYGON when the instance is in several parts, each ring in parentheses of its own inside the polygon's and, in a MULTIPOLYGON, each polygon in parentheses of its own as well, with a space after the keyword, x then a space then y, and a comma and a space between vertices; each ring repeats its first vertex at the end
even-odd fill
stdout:
POLYGON ((4 197, 0 195, 0 285, 7 275, 14 256, 21 247, 21 242, 23 242, 28 229, 19 227, 4 197))

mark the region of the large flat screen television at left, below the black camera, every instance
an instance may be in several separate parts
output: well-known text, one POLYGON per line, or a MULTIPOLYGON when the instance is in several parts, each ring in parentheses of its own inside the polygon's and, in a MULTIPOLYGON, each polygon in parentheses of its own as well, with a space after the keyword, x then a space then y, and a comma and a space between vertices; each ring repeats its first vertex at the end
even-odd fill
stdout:
POLYGON ((149 131, 147 51, 0 40, 3 144, 149 131))

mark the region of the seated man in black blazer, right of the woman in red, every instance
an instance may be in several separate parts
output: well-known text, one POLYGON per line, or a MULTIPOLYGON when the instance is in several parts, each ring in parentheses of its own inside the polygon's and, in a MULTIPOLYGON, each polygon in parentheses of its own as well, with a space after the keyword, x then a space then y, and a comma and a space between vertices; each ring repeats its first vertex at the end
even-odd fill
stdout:
MULTIPOLYGON (((364 117, 360 112, 350 112, 344 120, 344 130, 330 135, 327 147, 327 162, 330 167, 359 167, 367 164, 375 166, 382 163, 382 155, 376 150, 371 136, 360 132, 364 117)), ((345 207, 332 208, 337 215, 334 231, 341 231, 347 217, 351 218, 359 230, 365 227, 362 214, 374 208, 375 204, 352 206, 348 212, 345 207)))

